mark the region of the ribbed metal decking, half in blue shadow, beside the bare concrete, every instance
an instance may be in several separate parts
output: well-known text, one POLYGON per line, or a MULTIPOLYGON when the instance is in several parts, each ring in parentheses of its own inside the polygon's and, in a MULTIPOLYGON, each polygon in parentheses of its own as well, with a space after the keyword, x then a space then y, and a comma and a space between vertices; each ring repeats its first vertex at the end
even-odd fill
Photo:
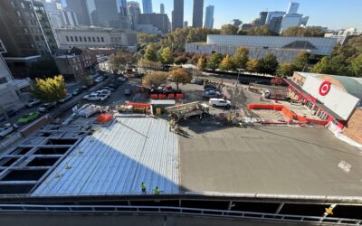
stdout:
POLYGON ((179 193, 178 140, 166 120, 118 118, 85 137, 33 196, 179 193), (69 167, 67 167, 69 166, 69 167))

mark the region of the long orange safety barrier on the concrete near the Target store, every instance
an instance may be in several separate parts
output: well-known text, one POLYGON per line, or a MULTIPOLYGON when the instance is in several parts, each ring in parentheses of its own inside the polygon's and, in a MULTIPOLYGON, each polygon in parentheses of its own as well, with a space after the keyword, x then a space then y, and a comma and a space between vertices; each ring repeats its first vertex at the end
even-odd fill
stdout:
POLYGON ((319 119, 304 118, 304 117, 298 116, 290 108, 287 108, 282 105, 250 104, 250 105, 248 105, 248 109, 280 110, 281 113, 284 116, 286 116, 287 118, 297 120, 300 123, 308 123, 308 124, 314 124, 314 125, 319 125, 319 126, 326 126, 329 123, 328 120, 319 120, 319 119))

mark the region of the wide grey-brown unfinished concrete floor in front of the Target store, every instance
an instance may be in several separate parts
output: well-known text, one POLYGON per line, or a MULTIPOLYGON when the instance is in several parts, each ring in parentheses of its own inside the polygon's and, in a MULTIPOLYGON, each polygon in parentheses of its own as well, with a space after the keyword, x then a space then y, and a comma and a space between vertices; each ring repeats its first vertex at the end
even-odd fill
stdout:
POLYGON ((185 191, 362 196, 360 150, 325 128, 185 126, 185 191))

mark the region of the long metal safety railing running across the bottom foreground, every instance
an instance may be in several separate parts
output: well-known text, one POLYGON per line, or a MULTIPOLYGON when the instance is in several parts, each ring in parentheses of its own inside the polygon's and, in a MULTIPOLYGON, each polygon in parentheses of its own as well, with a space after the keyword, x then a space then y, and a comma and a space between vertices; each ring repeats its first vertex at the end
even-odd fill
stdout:
POLYGON ((361 220, 333 217, 286 215, 263 212, 237 212, 226 210, 198 209, 170 206, 132 206, 132 205, 34 205, 0 204, 0 212, 87 212, 87 213, 140 213, 174 214, 225 218, 259 219, 264 221, 305 221, 330 224, 362 225, 361 220))

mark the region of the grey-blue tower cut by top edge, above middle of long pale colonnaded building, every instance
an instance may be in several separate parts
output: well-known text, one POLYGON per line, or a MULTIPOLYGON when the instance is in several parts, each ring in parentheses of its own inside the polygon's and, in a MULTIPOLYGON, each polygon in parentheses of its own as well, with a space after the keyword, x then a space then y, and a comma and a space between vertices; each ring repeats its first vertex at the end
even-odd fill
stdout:
POLYGON ((120 28, 119 9, 116 0, 94 0, 99 25, 120 28))

